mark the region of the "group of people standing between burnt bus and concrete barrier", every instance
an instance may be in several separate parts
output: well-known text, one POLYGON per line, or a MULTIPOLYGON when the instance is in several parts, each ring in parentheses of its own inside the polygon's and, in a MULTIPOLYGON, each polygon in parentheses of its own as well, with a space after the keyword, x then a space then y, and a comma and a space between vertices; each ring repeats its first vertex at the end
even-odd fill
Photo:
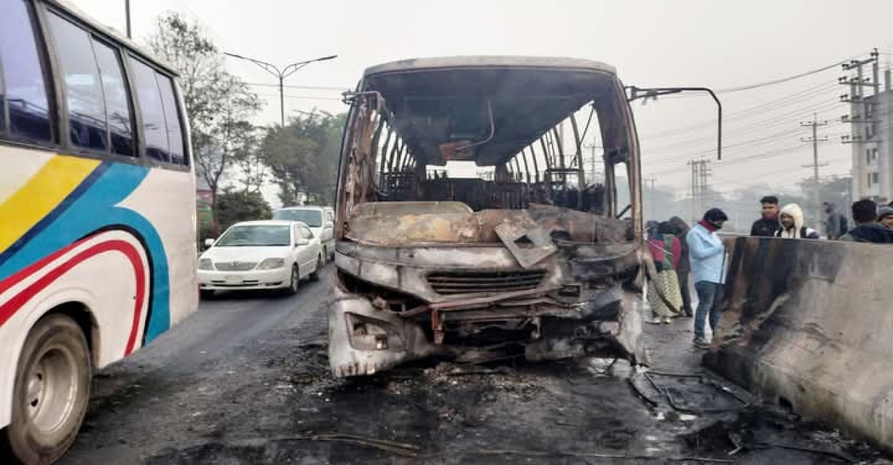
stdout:
POLYGON ((655 262, 656 277, 648 281, 647 299, 655 323, 669 323, 677 317, 695 317, 695 341, 705 348, 705 324, 711 328, 719 320, 719 302, 725 278, 725 247, 716 231, 729 220, 714 208, 689 228, 684 220, 672 217, 657 223, 649 221, 648 250, 655 262), (694 279, 697 310, 692 311, 689 277, 694 279))

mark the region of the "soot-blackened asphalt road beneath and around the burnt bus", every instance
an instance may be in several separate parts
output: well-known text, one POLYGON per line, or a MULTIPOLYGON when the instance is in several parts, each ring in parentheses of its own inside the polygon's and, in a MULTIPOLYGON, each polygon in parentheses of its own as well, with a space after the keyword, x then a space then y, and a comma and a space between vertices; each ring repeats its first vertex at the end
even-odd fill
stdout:
MULTIPOLYGON (((600 360, 421 364, 335 380, 325 354, 327 286, 323 279, 291 297, 203 302, 152 345, 101 370, 86 424, 63 463, 880 459, 787 411, 745 407, 703 374, 654 375, 651 384, 622 362, 610 369, 600 360), (675 405, 655 387, 672 393, 675 405)), ((655 369, 702 373, 690 325, 648 325, 655 369)))

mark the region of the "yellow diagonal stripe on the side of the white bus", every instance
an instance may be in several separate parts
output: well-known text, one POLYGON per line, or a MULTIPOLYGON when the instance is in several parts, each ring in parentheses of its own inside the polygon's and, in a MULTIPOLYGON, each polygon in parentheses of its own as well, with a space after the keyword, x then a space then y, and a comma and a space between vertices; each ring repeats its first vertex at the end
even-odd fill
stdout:
POLYGON ((0 253, 62 203, 97 165, 96 160, 54 156, 0 203, 0 253))

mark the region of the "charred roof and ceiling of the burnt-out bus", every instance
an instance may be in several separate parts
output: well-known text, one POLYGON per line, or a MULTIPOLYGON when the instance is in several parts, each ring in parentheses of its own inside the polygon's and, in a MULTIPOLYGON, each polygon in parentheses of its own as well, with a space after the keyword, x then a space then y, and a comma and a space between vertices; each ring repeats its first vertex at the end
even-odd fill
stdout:
POLYGON ((622 87, 601 62, 454 56, 373 66, 362 90, 384 97, 391 126, 420 162, 493 166, 599 96, 615 100, 622 87))

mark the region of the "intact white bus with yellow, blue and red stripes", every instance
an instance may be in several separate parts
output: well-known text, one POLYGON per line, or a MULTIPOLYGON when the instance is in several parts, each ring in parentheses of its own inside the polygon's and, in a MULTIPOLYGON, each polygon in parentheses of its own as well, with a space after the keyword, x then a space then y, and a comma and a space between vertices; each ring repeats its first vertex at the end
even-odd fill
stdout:
POLYGON ((196 310, 175 77, 57 1, 0 0, 0 462, 59 459, 92 370, 196 310))

